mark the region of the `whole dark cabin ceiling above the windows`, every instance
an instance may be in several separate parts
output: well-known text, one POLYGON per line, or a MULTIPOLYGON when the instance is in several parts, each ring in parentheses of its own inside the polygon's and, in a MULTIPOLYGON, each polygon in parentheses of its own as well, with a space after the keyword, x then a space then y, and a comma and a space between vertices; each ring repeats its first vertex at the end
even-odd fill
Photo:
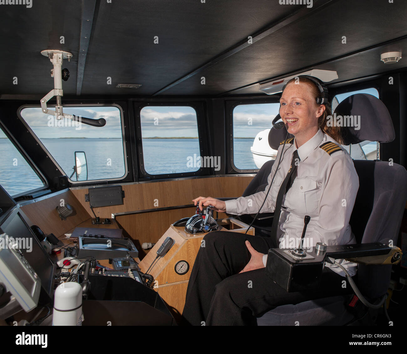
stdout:
POLYGON ((337 70, 344 81, 407 66, 407 58, 380 61, 387 51, 407 53, 402 1, 314 0, 307 8, 279 0, 32 0, 31 8, 0 7, 2 95, 44 96, 53 88, 44 49, 74 55, 63 63, 70 70, 64 95, 257 94, 261 81, 311 68, 337 70))

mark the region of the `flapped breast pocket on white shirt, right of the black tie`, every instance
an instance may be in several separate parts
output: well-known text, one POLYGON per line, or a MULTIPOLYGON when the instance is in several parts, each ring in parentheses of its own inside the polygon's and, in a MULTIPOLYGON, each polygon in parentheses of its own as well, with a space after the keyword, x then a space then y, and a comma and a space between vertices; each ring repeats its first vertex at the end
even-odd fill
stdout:
POLYGON ((296 178, 292 185, 292 201, 300 213, 312 213, 318 207, 318 185, 311 178, 296 178))

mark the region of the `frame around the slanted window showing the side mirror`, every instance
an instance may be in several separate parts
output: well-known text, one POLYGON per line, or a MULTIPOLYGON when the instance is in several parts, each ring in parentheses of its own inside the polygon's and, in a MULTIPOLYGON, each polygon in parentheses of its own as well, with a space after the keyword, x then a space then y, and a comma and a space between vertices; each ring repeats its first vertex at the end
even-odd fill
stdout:
MULTIPOLYGON (((121 123, 121 128, 122 128, 123 159, 124 159, 124 163, 125 163, 125 174, 122 177, 120 177, 120 178, 97 179, 97 180, 86 180, 86 181, 74 181, 74 180, 71 180, 69 178, 69 176, 63 171, 63 169, 59 165, 59 163, 57 163, 57 161, 52 156, 52 154, 46 149, 46 147, 44 146, 42 141, 38 138, 37 134, 34 133, 34 131, 31 129, 31 127, 28 125, 28 123, 24 120, 24 118, 21 115, 21 111, 24 108, 41 108, 41 106, 33 105, 33 104, 25 104, 25 105, 22 105, 22 106, 20 106, 18 108, 17 114, 18 114, 18 117, 19 117, 20 121, 27 128, 28 132, 33 136, 33 138, 35 139, 37 144, 48 154, 48 157, 55 164, 55 166, 58 168, 61 175, 66 176, 66 178, 68 179, 68 182, 71 185, 91 185, 91 184, 95 184, 95 182, 124 180, 129 174, 129 168, 128 168, 128 165, 127 165, 127 157, 126 157, 127 156, 127 151, 126 151, 125 122, 124 122, 125 116, 124 116, 124 113, 123 113, 123 108, 120 105, 118 105, 117 103, 77 103, 77 104, 75 104, 75 103, 69 103, 68 104, 67 103, 67 104, 63 105, 63 107, 81 107, 81 106, 82 107, 116 107, 116 108, 119 109, 120 123, 121 123)), ((49 114, 49 115, 51 115, 51 114, 49 114)))

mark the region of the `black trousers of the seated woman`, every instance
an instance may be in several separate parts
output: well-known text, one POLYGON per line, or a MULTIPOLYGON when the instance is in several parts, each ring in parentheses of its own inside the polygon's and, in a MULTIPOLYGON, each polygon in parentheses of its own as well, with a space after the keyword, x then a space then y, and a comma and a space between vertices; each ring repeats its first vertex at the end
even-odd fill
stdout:
POLYGON ((346 279, 329 269, 321 287, 306 292, 287 292, 265 274, 265 268, 238 274, 250 260, 245 240, 260 253, 276 248, 271 237, 230 231, 205 235, 186 292, 185 324, 256 325, 256 316, 276 306, 352 292, 349 284, 342 287, 346 279))

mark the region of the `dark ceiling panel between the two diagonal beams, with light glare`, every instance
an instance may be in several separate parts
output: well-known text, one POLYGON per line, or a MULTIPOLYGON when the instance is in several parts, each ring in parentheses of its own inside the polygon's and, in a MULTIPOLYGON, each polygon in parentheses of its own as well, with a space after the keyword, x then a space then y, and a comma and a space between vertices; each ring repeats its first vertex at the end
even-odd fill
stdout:
MULTIPOLYGON (((406 35, 407 3, 392 5, 386 2, 372 4, 369 0, 336 2, 207 68, 199 77, 190 77, 165 94, 221 94, 406 35), (372 12, 366 13, 366 9, 372 12), (346 36, 346 44, 342 44, 342 36, 346 36), (201 76, 206 78, 205 85, 200 84, 201 76)), ((396 46, 388 48, 395 50, 396 46)), ((377 59, 374 55, 367 55, 372 58, 371 62, 377 59)), ((380 55, 377 64, 381 64, 380 55)), ((403 60, 398 65, 406 66, 403 60)), ((360 77, 362 69, 366 68, 361 62, 361 66, 352 67, 353 71, 347 76, 360 77)), ((374 73, 374 68, 367 69, 372 70, 370 74, 374 73)))

